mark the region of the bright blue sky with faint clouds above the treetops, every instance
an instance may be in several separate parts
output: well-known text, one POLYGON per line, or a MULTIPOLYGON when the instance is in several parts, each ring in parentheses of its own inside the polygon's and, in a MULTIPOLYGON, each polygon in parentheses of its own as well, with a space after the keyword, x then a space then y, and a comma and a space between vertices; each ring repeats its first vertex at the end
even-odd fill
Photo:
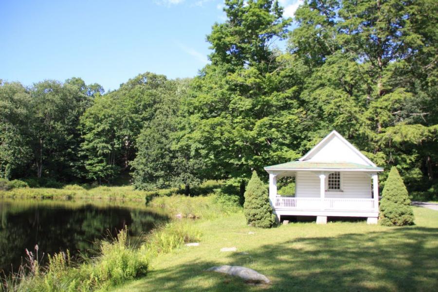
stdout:
MULTIPOLYGON (((223 0, 0 0, 0 79, 81 77, 114 90, 146 71, 193 77, 223 0)), ((293 16, 301 0, 280 0, 293 16)))

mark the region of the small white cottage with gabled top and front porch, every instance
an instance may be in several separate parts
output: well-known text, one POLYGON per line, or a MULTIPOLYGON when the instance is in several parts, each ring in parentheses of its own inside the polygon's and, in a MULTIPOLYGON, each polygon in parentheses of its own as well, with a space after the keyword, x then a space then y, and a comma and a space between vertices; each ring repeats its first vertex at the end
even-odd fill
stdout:
POLYGON ((332 131, 298 161, 265 167, 269 173, 269 201, 281 216, 379 217, 377 167, 338 132, 332 131), (277 195, 277 179, 295 177, 295 194, 277 195))

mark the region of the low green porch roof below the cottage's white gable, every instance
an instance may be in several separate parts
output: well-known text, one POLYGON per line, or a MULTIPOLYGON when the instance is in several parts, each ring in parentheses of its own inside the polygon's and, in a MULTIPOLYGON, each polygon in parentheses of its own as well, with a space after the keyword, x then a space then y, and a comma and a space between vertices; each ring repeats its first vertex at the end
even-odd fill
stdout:
POLYGON ((314 162, 314 161, 291 161, 282 164, 276 164, 271 166, 266 166, 266 170, 299 170, 299 169, 365 169, 365 170, 376 170, 382 171, 382 167, 374 167, 371 165, 349 163, 349 162, 314 162))

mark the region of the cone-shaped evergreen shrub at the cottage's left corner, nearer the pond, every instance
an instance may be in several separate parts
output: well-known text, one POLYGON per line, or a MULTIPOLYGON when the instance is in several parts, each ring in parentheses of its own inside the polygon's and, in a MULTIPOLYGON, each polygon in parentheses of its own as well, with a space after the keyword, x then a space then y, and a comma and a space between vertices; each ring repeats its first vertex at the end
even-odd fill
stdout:
POLYGON ((256 227, 269 228, 274 225, 275 215, 269 204, 269 195, 266 186, 260 181, 256 171, 248 183, 245 191, 243 213, 248 224, 256 227))

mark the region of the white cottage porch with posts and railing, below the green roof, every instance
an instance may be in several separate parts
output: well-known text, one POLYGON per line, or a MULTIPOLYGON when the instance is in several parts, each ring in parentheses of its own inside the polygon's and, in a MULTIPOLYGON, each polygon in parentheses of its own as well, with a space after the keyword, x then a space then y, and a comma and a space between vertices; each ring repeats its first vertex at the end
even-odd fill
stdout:
POLYGON ((278 220, 281 216, 316 216, 317 223, 326 223, 327 217, 363 217, 370 224, 377 223, 380 169, 330 166, 318 170, 267 169, 269 198, 278 220), (283 177, 295 177, 294 194, 277 194, 277 179, 283 177))

